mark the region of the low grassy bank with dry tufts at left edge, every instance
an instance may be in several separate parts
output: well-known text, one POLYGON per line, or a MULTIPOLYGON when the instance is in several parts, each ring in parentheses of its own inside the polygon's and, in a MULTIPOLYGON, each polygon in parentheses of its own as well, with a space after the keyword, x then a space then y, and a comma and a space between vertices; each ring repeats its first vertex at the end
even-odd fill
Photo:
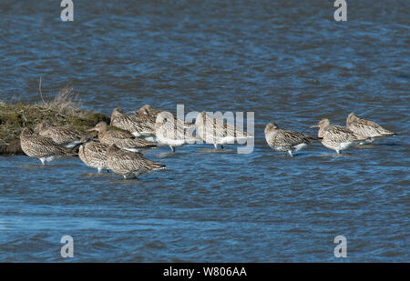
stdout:
MULTIPOLYGON (((41 92, 40 92, 41 94, 41 92)), ((19 136, 25 127, 35 128, 41 122, 64 125, 84 131, 99 121, 109 124, 109 117, 80 109, 72 88, 63 88, 50 102, 41 104, 5 104, 0 101, 0 155, 21 154, 19 136)))

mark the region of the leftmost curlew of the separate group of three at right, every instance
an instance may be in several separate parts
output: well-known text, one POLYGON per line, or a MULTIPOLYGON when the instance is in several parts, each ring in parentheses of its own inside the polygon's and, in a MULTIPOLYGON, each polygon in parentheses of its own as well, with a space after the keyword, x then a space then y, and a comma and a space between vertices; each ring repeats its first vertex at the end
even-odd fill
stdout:
POLYGON ((310 135, 303 135, 299 132, 283 130, 276 123, 271 122, 265 127, 265 139, 273 150, 288 152, 299 151, 304 146, 309 146, 312 141, 318 141, 320 138, 310 135))

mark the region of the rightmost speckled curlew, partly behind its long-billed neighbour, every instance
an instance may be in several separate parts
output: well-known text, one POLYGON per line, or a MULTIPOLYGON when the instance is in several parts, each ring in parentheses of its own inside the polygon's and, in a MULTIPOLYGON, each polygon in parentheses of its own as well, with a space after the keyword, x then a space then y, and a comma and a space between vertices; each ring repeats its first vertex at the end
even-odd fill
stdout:
POLYGON ((368 138, 367 142, 372 142, 375 138, 395 135, 373 121, 357 117, 353 112, 347 116, 346 128, 354 132, 358 138, 368 138))

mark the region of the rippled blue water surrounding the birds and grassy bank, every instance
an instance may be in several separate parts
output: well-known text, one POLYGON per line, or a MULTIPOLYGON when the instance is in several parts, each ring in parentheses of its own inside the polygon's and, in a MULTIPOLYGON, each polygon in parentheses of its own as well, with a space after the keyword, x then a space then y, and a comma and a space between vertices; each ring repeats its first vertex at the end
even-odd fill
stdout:
POLYGON ((0 261, 408 262, 408 1, 0 1, 0 100, 39 102, 73 85, 110 114, 150 104, 255 114, 253 153, 183 146, 147 156, 167 170, 123 180, 77 158, 0 156, 0 261), (341 156, 294 158, 265 144, 357 115, 399 135, 341 156), (346 259, 333 256, 346 236, 346 259))

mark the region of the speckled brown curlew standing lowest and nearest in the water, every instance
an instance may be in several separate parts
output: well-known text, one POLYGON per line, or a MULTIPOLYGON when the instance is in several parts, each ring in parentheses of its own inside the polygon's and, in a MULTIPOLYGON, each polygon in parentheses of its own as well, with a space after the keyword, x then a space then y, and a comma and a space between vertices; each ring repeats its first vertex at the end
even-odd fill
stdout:
POLYGON ((152 162, 140 153, 120 149, 116 145, 109 146, 107 161, 109 168, 124 178, 165 169, 165 165, 152 162))

